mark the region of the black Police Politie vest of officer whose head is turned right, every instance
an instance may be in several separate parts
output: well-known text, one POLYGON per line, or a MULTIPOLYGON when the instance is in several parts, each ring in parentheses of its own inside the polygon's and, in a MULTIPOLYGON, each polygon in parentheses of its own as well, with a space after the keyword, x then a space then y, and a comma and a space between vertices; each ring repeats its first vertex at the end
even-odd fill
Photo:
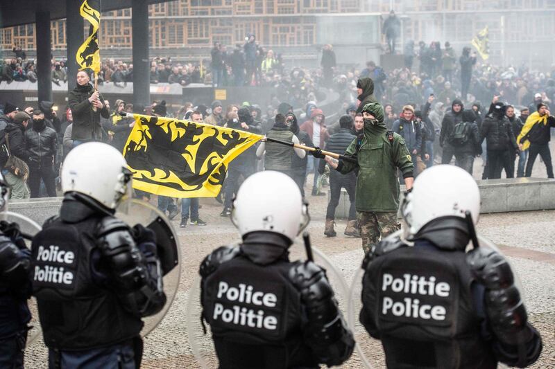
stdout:
MULTIPOLYGON (((62 205, 77 211, 76 201, 62 205)), ((99 271, 96 230, 105 215, 78 222, 54 218, 33 239, 31 278, 44 343, 59 350, 99 348, 139 335, 143 323, 127 312, 99 271)), ((105 279, 105 277, 104 277, 105 279)))

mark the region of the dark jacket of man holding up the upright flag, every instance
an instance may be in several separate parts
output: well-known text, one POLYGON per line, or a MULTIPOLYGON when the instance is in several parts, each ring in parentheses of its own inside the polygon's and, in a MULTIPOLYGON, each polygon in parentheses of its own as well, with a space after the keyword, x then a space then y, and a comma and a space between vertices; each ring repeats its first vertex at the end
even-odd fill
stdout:
MULTIPOLYGON (((92 84, 77 85, 69 93, 68 105, 74 116, 73 132, 71 139, 74 141, 99 141, 102 138, 102 125, 100 117, 110 117, 110 111, 103 106, 94 111, 89 97, 94 92, 92 84)), ((103 101, 103 97, 100 96, 103 101)))

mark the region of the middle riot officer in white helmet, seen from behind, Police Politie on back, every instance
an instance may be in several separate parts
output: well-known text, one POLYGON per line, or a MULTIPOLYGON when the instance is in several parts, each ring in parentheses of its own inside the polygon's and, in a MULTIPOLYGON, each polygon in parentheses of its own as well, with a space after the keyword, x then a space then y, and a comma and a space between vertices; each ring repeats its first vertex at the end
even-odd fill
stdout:
POLYGON ((300 190, 286 174, 244 181, 232 222, 242 242, 203 260, 203 319, 212 328, 220 368, 319 368, 339 365, 355 346, 325 271, 289 261, 308 221, 300 190))

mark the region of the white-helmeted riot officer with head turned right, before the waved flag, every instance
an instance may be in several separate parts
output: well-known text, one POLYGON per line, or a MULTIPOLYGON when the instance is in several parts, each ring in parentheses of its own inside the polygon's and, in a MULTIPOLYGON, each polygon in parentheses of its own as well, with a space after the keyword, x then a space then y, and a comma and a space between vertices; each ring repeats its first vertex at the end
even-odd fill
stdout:
POLYGON ((31 278, 49 368, 135 368, 142 317, 166 303, 155 235, 114 217, 128 192, 123 156, 104 143, 71 150, 60 215, 33 238, 31 278))

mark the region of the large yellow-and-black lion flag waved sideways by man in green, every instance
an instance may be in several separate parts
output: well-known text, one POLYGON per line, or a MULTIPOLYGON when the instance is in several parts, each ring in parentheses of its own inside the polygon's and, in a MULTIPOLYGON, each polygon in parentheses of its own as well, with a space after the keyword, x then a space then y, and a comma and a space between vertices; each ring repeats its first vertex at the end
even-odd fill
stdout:
POLYGON ((263 136, 135 114, 123 148, 133 188, 169 197, 215 197, 230 161, 263 136))

